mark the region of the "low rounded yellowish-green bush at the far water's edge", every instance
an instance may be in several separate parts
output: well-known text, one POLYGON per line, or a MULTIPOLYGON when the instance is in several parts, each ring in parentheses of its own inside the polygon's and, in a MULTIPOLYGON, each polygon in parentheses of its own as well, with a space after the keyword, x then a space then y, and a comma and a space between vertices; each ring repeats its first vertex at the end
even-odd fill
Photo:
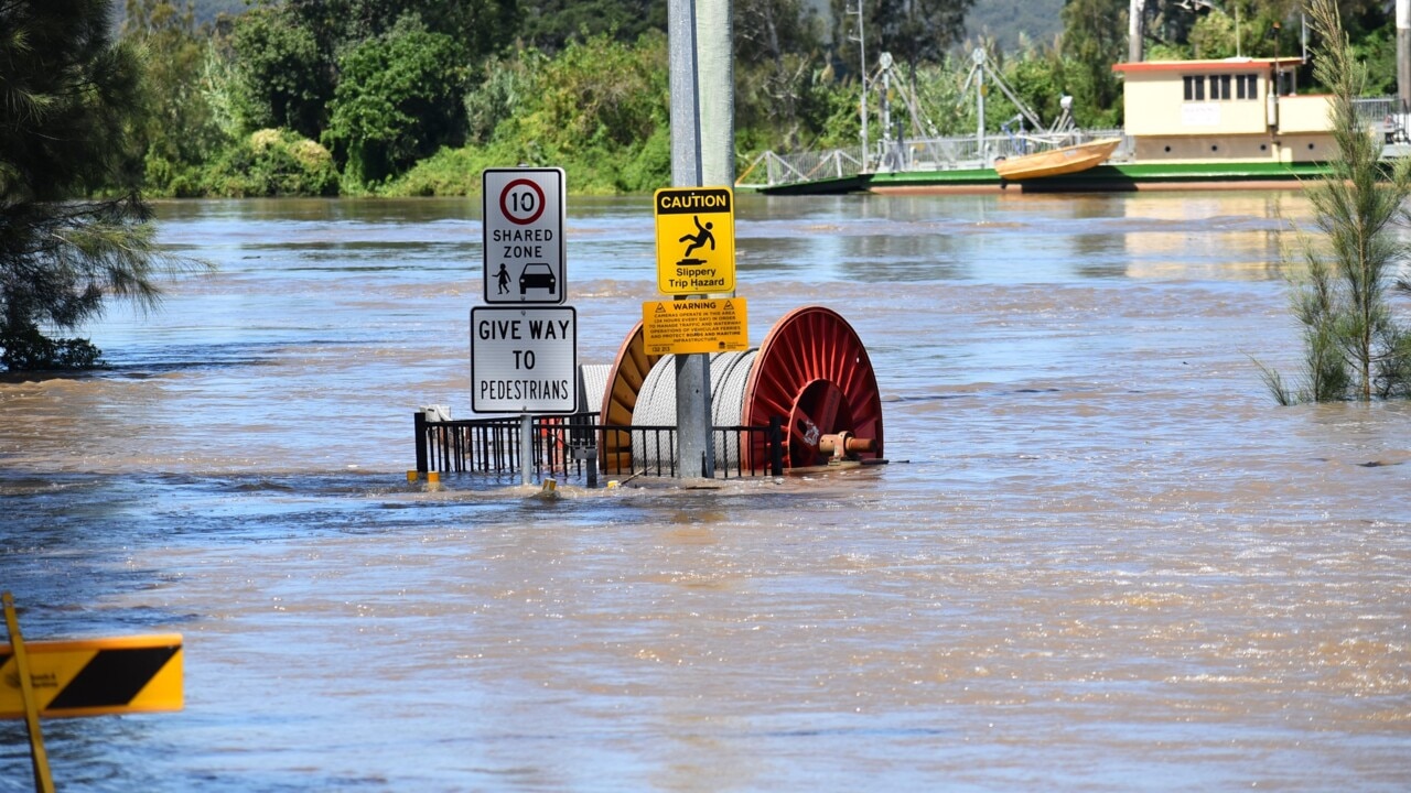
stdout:
POLYGON ((292 130, 257 130, 226 150, 202 189, 226 198, 332 196, 339 174, 320 144, 292 130))

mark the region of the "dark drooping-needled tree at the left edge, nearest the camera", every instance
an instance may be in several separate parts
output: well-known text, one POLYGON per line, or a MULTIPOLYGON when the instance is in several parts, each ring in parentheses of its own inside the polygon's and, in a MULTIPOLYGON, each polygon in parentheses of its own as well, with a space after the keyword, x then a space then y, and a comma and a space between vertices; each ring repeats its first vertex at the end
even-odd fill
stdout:
POLYGON ((152 305, 171 260, 152 244, 150 209, 131 192, 138 63, 113 45, 107 0, 0 3, 0 363, 83 367, 99 350, 52 340, 109 296, 152 305), (103 186, 119 198, 69 200, 103 186))

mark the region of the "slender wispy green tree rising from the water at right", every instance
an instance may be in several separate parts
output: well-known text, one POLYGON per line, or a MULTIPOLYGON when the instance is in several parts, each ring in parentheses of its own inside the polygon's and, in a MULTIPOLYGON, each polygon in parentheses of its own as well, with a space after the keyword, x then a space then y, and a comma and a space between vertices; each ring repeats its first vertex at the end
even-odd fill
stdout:
POLYGON ((1411 222, 1411 161, 1395 162, 1390 179, 1380 143, 1357 117, 1352 100, 1367 80, 1343 32, 1333 0, 1311 8, 1322 38, 1314 69, 1332 89, 1332 128, 1339 157, 1322 183, 1309 188, 1325 244, 1304 240, 1307 279, 1294 292, 1294 315, 1304 326, 1304 385, 1292 389, 1264 370, 1280 404, 1411 396, 1411 332, 1393 316, 1387 293, 1411 246, 1394 236, 1411 222))

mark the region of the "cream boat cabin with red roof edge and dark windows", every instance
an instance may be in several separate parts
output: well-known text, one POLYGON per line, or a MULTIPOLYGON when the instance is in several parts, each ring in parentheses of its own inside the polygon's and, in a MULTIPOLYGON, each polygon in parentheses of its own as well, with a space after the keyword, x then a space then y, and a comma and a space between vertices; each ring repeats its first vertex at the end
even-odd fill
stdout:
POLYGON ((1116 63, 1137 162, 1322 162, 1336 154, 1328 96, 1295 96, 1301 58, 1116 63))

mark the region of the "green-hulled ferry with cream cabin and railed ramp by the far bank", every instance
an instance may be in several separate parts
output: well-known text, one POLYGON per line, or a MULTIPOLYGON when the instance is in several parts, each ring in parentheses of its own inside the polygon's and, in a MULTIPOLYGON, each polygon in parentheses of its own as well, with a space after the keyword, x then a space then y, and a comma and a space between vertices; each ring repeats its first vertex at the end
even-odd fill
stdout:
MULTIPOLYGON (((982 66, 979 54, 975 59, 982 66)), ((885 140, 878 168, 841 150, 831 158, 793 161, 766 154, 737 188, 766 195, 1298 189, 1325 175, 1336 157, 1332 97, 1297 93, 1302 63, 1302 58, 1116 63, 1126 107, 1122 130, 1068 128, 1058 135, 1050 130, 1047 137, 981 130, 974 138, 885 140), (1048 144, 1048 151, 1036 155, 1034 144, 1048 144), (1051 157, 1065 150, 1088 157, 1055 165, 1051 157), (1031 169, 1016 171, 1016 164, 1031 169)), ((999 80, 993 72, 982 73, 999 80)), ((1359 100, 1359 113, 1388 144, 1404 137, 1390 121, 1394 100, 1359 100)))

